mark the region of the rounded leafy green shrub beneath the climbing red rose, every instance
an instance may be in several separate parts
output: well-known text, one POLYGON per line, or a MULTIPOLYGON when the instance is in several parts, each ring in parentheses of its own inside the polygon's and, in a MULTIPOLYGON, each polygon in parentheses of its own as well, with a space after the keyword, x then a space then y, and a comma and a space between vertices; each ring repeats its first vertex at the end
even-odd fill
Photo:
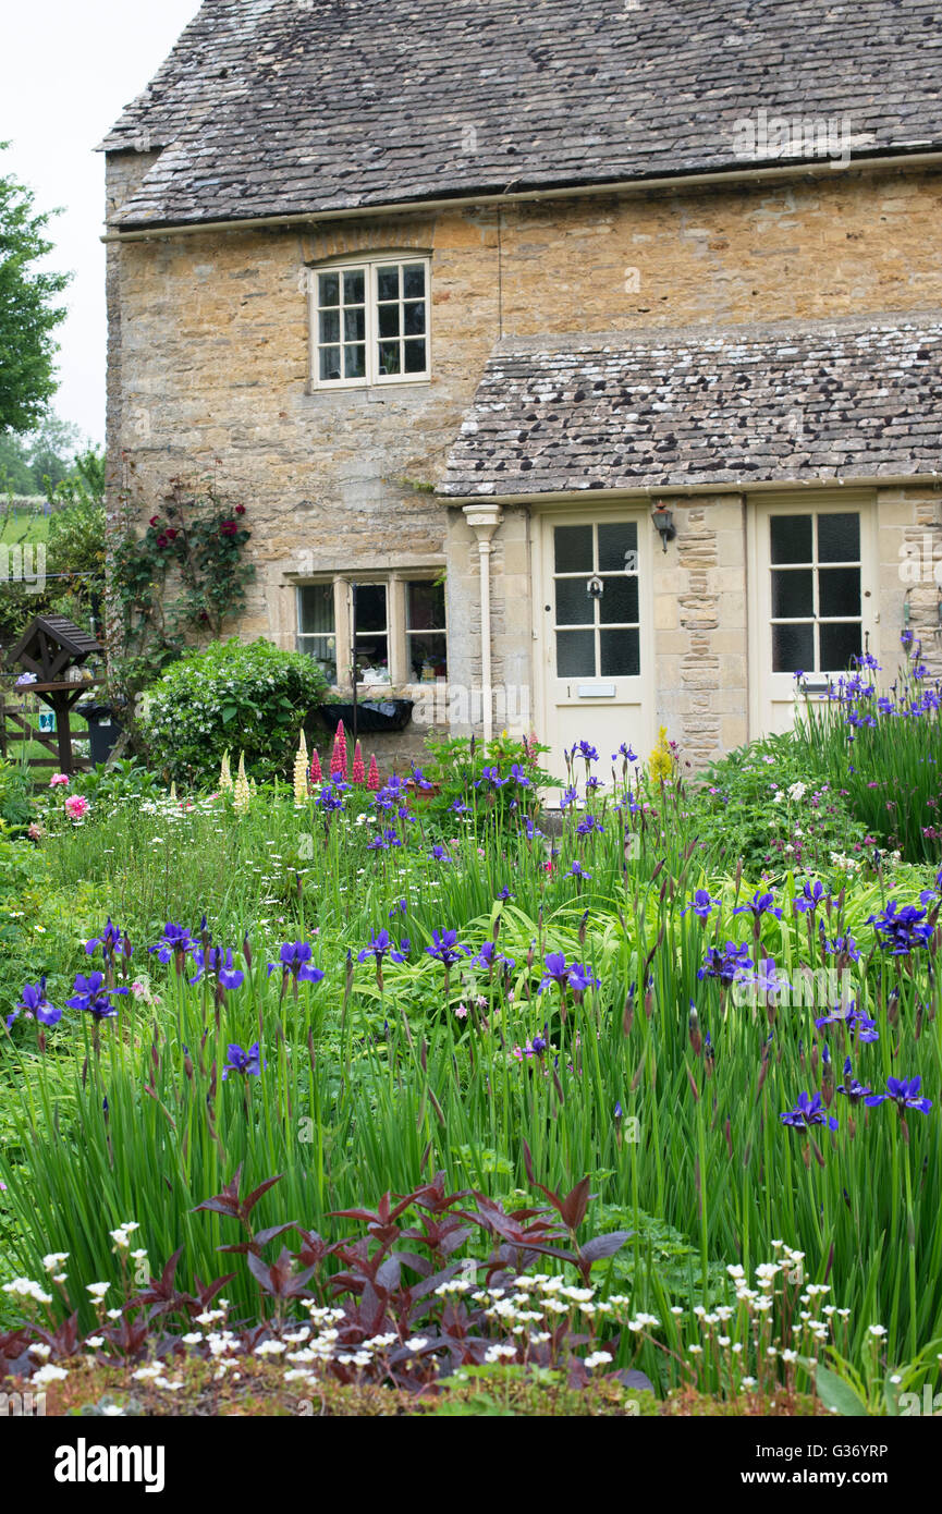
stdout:
POLYGON ((273 642, 212 642, 167 669, 142 718, 150 765, 177 783, 211 784, 226 751, 256 778, 286 777, 324 674, 273 642))

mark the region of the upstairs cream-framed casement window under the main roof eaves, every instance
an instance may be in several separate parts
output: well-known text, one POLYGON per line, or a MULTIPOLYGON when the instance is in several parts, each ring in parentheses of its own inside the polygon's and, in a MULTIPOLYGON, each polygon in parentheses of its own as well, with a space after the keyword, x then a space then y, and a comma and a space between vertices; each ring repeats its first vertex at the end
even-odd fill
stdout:
POLYGON ((313 385, 421 383, 430 374, 427 257, 312 273, 313 385))

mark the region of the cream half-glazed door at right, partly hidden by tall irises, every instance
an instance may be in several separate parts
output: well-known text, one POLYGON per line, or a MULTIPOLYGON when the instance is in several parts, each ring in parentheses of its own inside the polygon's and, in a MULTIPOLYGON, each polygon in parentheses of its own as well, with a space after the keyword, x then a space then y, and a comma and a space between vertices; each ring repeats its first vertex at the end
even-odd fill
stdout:
POLYGON ((871 650, 877 512, 865 492, 750 501, 751 733, 786 731, 798 680, 819 698, 871 650))

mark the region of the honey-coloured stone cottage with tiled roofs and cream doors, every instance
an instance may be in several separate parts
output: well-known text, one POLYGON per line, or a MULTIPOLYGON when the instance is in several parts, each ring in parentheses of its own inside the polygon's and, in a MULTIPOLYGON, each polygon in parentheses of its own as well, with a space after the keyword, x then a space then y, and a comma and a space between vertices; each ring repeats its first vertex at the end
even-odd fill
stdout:
POLYGON ((221 459, 406 749, 942 662, 936 0, 204 0, 103 145, 112 507, 221 459))

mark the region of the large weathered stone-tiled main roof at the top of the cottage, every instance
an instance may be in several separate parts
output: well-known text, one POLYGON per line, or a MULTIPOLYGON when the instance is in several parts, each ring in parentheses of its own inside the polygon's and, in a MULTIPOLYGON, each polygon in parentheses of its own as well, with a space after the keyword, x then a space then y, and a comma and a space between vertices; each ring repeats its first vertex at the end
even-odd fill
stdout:
MULTIPOLYGON (((104 141, 124 229, 742 168, 735 123, 942 144, 936 0, 206 0, 104 141)), ((739 144, 742 151, 742 144, 739 144)), ((803 148, 756 145, 759 162, 803 148)))

